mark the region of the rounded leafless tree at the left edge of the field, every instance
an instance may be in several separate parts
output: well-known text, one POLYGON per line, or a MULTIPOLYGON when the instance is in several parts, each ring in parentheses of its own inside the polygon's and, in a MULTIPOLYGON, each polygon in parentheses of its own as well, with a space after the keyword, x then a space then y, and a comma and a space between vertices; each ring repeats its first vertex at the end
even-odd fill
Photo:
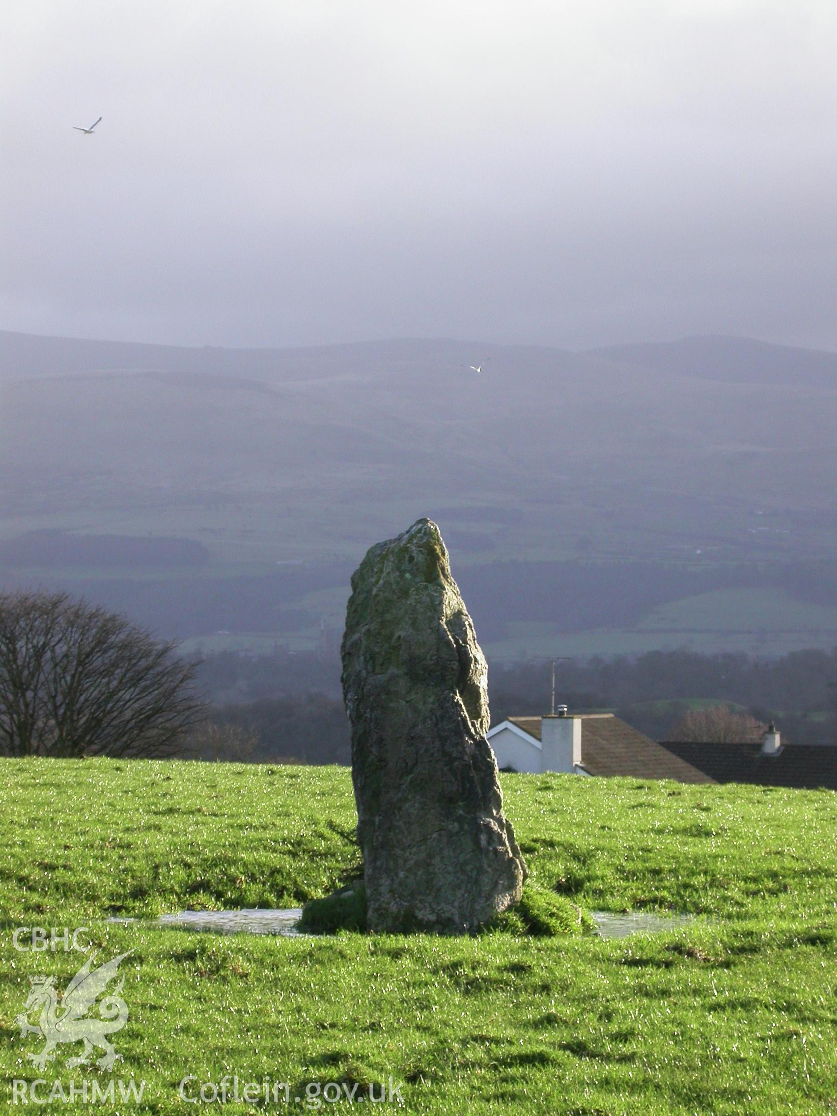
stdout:
POLYGON ((203 703, 174 648, 67 594, 0 594, 0 754, 176 753, 203 703))

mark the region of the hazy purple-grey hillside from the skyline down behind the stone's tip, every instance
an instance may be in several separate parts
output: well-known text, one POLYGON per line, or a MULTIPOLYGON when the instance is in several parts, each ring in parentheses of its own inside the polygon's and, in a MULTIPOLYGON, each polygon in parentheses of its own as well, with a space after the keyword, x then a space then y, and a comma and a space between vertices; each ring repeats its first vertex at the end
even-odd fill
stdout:
MULTIPOLYGON (((690 597, 690 577, 698 595, 761 591, 789 564, 819 564, 821 579, 837 555, 834 354, 735 338, 574 354, 455 340, 228 350, 2 334, 0 367, 0 571, 10 584, 62 570, 87 586, 123 576, 125 554, 142 566, 145 551, 117 540, 137 536, 200 555, 202 578, 258 579, 288 562, 344 570, 430 514, 455 568, 587 569, 599 609, 587 620, 606 627, 610 614, 624 619, 619 594, 631 596, 642 564, 662 571, 652 586, 670 586, 662 604, 690 597), (481 363, 480 374, 469 368, 481 363), (33 533, 46 529, 58 535, 33 533), (189 540, 200 547, 190 551, 189 540)), ((165 548, 146 550, 157 558, 137 576, 167 576, 165 548)), ((518 584, 520 573, 508 577, 518 584)), ((489 583, 508 595, 494 575, 489 583)), ((333 596, 308 603, 312 617, 338 615, 328 586, 331 575, 323 591, 333 596)), ((655 605, 645 584, 637 599, 655 605)), ((247 624, 218 626, 252 629, 259 607, 248 607, 247 624)), ((519 619, 537 615, 529 604, 519 619)), ((513 619, 512 610, 503 624, 513 619)), ((560 627, 560 615, 552 622, 560 627)), ((210 623, 184 622, 177 634, 210 623)))

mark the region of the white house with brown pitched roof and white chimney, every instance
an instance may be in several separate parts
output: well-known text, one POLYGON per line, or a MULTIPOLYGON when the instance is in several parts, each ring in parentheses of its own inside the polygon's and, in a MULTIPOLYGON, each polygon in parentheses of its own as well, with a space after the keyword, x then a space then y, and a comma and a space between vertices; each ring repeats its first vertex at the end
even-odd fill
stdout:
POLYGON ((510 716, 489 730, 488 741, 500 770, 713 781, 613 713, 559 706, 546 716, 510 716))

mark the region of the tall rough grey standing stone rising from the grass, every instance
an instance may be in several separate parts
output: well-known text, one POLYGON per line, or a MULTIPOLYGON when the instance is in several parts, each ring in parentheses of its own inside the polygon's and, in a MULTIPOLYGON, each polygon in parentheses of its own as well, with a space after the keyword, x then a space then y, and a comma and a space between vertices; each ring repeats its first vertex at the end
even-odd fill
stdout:
POLYGON ((487 681, 436 525, 372 547, 343 641, 369 930, 463 933, 520 898, 487 681))

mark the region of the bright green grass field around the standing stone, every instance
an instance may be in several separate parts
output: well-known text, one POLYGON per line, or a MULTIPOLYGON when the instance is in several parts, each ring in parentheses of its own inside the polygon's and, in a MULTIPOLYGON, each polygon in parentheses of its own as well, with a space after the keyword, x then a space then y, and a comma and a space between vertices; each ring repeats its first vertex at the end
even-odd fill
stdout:
MULTIPOLYGON (((531 875, 587 910, 696 921, 655 935, 219 936, 108 924, 185 907, 297 906, 358 864, 348 771, 3 760, 0 1107, 12 1080, 145 1081, 143 1100, 29 1110, 230 1116, 328 1109, 397 1086, 411 1113, 837 1113, 837 796, 506 776, 531 875), (86 926, 129 1008, 110 1071, 15 1026, 78 952, 19 926, 86 926), (26 936, 23 944, 28 943, 26 936), (288 1083, 290 1101, 189 1105, 179 1083, 288 1083), (297 1101, 295 1097, 300 1099, 297 1101)), ((191 1093, 189 1091, 191 1090, 191 1093)), ((42 1093, 42 1090, 41 1090, 42 1093)), ((388 1095, 388 1094, 387 1094, 388 1095)), ((282 1093, 283 1097, 285 1094, 282 1093)), ((368 1101, 367 1101, 368 1103, 368 1101)), ((362 1109, 363 1110, 363 1109, 362 1109)))

